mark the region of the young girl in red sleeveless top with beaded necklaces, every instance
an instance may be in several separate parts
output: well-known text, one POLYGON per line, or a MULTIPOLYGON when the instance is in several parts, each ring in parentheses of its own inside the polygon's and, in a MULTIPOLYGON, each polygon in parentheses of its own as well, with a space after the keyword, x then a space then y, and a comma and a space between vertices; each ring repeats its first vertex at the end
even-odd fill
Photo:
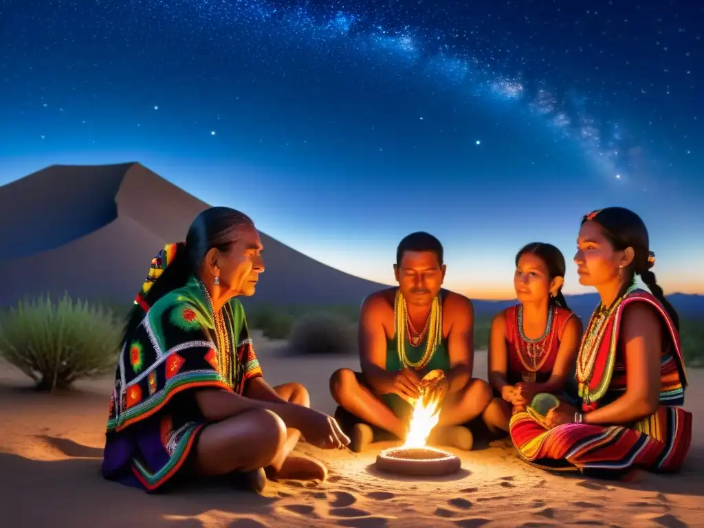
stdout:
POLYGON ((516 255, 513 286, 519 303, 491 322, 489 383, 496 398, 484 411, 490 429, 508 432, 513 410, 536 394, 561 394, 577 357, 582 322, 562 296, 565 257, 533 242, 516 255))

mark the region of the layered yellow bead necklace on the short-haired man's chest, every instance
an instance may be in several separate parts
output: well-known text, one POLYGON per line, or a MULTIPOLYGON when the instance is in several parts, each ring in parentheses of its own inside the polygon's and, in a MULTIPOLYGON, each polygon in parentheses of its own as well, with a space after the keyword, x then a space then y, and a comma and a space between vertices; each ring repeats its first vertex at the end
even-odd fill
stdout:
MULTIPOLYGON (((408 317, 408 306, 406 306, 406 298, 401 294, 401 290, 396 291, 396 300, 394 301, 394 333, 396 334, 396 350, 398 351, 398 360, 401 361, 403 367, 413 367, 417 370, 422 369, 428 364, 432 358, 435 348, 442 341, 442 306, 438 296, 433 298, 430 306, 430 313, 425 321, 425 329, 420 335, 411 336, 409 329, 413 329, 413 324, 408 317), (418 346, 424 335, 427 333, 427 341, 425 343, 425 353, 418 361, 411 361, 406 355, 406 337, 412 346, 418 346)), ((415 329, 413 329, 415 332, 415 329)))

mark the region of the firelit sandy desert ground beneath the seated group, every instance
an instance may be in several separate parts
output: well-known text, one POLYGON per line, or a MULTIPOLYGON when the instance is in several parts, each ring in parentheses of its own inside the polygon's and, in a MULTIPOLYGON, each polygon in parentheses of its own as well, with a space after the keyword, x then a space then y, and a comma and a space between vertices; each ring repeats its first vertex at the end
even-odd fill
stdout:
MULTIPOLYGON (((270 384, 305 384, 313 406, 332 413, 327 377, 356 358, 286 358, 258 340, 270 384)), ((486 372, 477 353, 475 372, 486 372)), ((303 453, 329 467, 320 484, 270 482, 263 496, 213 487, 147 495, 99 475, 111 379, 81 382, 72 394, 36 394, 0 363, 0 511, 7 527, 704 527, 704 371, 691 371, 694 441, 677 476, 643 472, 620 484, 548 474, 508 447, 461 454, 460 474, 402 479, 375 472, 379 448, 354 455, 303 453)))

